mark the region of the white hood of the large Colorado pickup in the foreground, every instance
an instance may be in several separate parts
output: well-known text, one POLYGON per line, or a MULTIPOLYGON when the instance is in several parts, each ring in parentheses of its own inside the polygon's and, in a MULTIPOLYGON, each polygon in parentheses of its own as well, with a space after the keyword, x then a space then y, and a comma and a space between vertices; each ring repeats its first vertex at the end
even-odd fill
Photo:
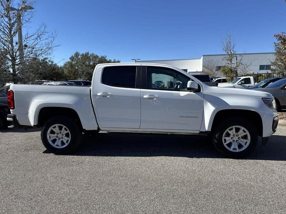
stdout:
POLYGON ((217 95, 217 97, 220 97, 220 94, 223 94, 232 96, 233 99, 241 96, 274 98, 270 93, 260 90, 245 90, 244 88, 204 87, 204 90, 205 94, 217 95))

